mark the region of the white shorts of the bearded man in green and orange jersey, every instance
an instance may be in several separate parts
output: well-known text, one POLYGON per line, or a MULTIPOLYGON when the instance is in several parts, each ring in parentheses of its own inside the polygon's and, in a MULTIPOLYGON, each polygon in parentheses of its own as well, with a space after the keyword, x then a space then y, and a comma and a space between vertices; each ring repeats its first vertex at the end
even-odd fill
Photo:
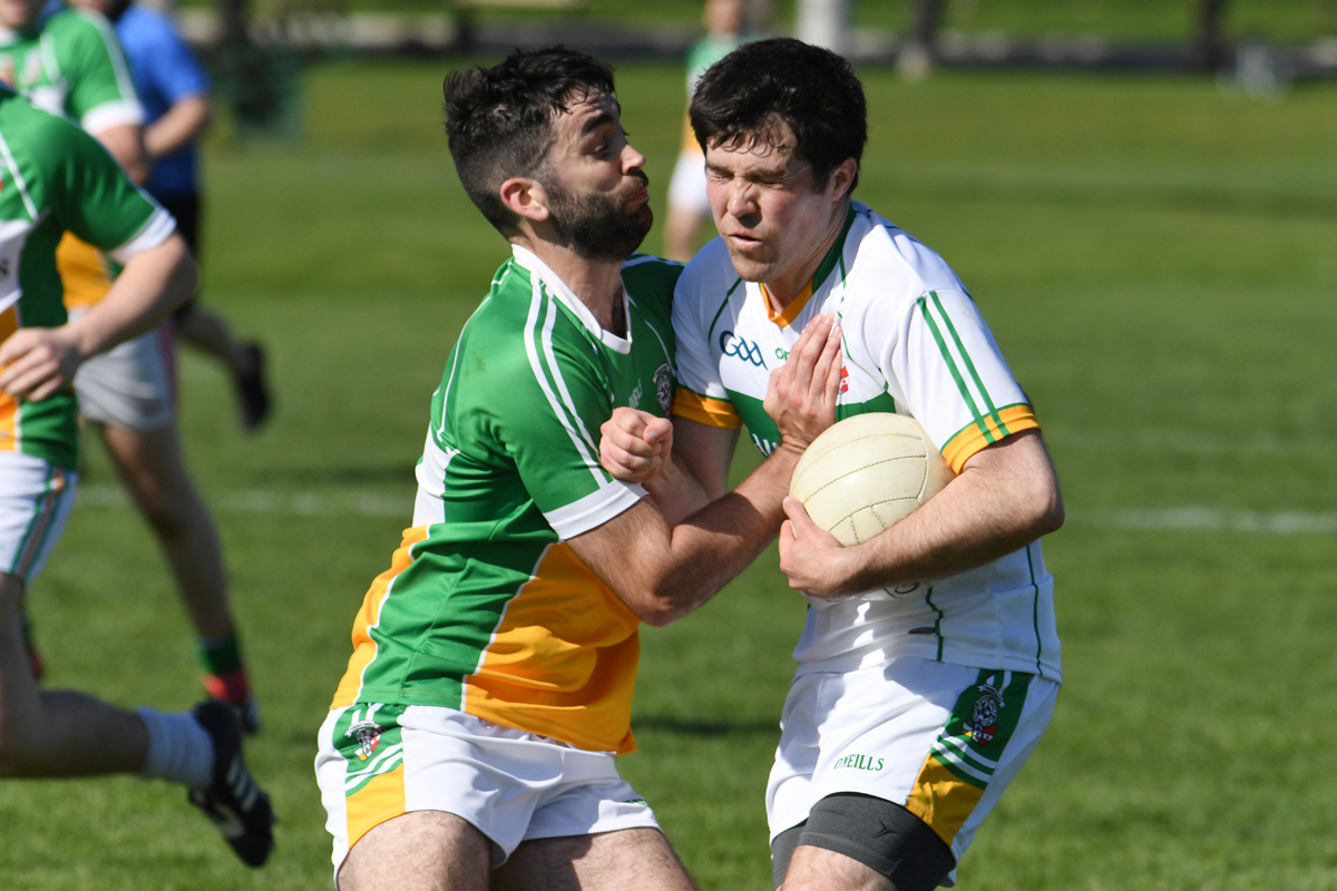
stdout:
POLYGON ((521 842, 659 828, 618 775, 587 752, 436 705, 349 705, 320 732, 316 780, 334 836, 334 880, 369 830, 409 811, 445 811, 492 840, 492 866, 521 842))

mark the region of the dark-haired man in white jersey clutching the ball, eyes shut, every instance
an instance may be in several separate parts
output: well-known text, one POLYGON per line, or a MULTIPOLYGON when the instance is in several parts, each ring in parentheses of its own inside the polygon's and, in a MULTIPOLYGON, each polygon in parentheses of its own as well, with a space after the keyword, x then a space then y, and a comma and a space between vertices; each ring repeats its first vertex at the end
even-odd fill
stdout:
POLYGON ((955 882, 1034 751, 1060 683, 1039 537, 1063 506, 1039 425, 955 273, 853 202, 866 142, 849 64, 797 40, 746 44, 701 80, 691 123, 721 238, 674 298, 674 419, 626 410, 604 465, 644 480, 671 452, 717 497, 769 370, 818 314, 842 327, 840 417, 919 419, 957 473, 919 512, 842 549, 794 498, 781 568, 812 605, 766 791, 774 884, 955 882))

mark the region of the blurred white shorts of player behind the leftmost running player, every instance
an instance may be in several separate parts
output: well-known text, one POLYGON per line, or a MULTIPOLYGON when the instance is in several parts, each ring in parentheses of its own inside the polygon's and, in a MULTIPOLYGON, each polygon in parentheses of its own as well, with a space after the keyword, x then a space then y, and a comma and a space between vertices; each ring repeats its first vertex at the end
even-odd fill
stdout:
MULTIPOLYGON (((71 313, 78 318, 79 313, 71 313)), ((90 421, 155 430, 176 417, 171 323, 92 357, 75 373, 79 411, 90 421)))

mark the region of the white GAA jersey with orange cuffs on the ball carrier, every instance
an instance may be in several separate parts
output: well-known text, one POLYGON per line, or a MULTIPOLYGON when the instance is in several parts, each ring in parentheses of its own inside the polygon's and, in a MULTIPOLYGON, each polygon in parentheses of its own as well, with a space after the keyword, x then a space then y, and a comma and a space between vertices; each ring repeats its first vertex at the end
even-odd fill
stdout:
MULTIPOLYGON (((838 417, 916 418, 956 472, 980 449, 1039 425, 965 286, 932 250, 853 203, 809 289, 782 313, 743 282, 721 239, 687 266, 674 297, 674 414, 743 423, 770 454, 779 434, 762 409, 770 373, 804 326, 836 314, 844 367, 838 417)), ((1059 680, 1054 580, 1040 542, 932 584, 812 609, 794 651, 800 672, 852 671, 897 656, 1059 680)))

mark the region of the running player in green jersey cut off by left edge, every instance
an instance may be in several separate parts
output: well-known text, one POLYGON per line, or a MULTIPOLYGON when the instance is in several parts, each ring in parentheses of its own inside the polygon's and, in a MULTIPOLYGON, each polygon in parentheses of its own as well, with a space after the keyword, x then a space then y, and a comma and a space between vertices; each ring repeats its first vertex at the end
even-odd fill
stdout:
POLYGON ((160 322, 195 286, 175 222, 72 123, 0 87, 0 776, 139 773, 190 788, 237 854, 273 847, 267 796, 242 759, 231 709, 127 712, 72 691, 40 691, 19 604, 60 537, 78 485, 70 383, 91 355, 160 322), (106 299, 67 321, 56 244, 67 232, 124 271, 106 299))

